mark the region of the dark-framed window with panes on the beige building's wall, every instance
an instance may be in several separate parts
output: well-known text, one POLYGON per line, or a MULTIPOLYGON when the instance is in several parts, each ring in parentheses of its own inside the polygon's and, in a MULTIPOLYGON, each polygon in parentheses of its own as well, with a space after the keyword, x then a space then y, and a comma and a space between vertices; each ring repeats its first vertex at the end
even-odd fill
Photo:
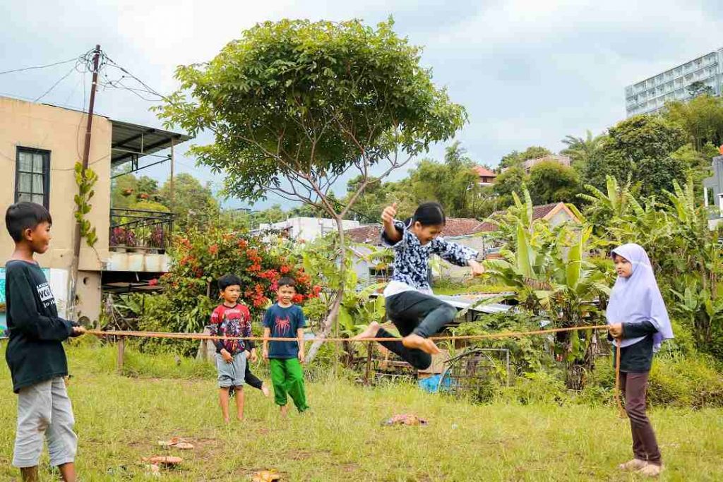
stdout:
POLYGON ((15 202, 35 202, 48 208, 49 189, 50 151, 18 147, 15 165, 15 202))

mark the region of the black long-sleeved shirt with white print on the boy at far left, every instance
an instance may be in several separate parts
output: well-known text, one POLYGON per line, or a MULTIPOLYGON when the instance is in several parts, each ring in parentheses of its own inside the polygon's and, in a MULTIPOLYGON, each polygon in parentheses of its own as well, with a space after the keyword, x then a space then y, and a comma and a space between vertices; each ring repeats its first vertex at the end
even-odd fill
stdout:
POLYGON ((5 360, 12 390, 67 376, 62 341, 74 323, 58 317, 55 297, 38 264, 13 259, 5 264, 5 297, 10 340, 5 360))

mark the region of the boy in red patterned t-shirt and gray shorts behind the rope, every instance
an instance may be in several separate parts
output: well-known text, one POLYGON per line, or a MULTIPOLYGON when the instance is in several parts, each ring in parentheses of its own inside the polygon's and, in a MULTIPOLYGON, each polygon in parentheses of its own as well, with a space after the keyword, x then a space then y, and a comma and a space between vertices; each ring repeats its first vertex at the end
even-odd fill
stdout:
MULTIPOLYGON (((218 290, 223 303, 211 313, 210 334, 227 337, 251 336, 251 313, 247 306, 238 303, 241 296, 241 280, 235 275, 218 278, 218 290)), ((256 348, 251 340, 214 340, 216 369, 218 371, 218 400, 223 421, 228 423, 228 399, 236 395, 236 416, 244 419, 244 382, 258 388, 268 397, 269 390, 249 370, 249 361, 256 361, 256 348)))

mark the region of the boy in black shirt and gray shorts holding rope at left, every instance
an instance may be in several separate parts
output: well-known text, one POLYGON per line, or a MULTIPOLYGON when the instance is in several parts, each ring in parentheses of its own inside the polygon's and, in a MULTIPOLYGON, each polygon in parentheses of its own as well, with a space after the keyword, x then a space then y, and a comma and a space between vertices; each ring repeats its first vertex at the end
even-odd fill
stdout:
POLYGON ((18 202, 5 214, 15 251, 5 263, 9 342, 5 359, 17 393, 17 434, 12 465, 23 481, 38 481, 43 436, 51 465, 74 482, 77 436, 65 388, 68 363, 62 341, 85 328, 58 317, 55 298, 33 256, 48 251, 53 221, 45 207, 18 202))

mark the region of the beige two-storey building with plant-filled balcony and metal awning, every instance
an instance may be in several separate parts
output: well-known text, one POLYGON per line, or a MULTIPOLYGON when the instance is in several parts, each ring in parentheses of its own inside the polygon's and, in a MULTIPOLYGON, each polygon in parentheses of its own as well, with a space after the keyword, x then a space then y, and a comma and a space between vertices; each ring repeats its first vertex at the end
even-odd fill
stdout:
MULTIPOLYGON (((114 210, 111 207, 111 171, 119 165, 140 168, 139 160, 184 142, 183 134, 93 116, 89 168, 98 174, 86 215, 98 235, 90 248, 80 249, 77 302, 69 313, 69 277, 73 257, 74 165, 81 159, 87 115, 67 108, 0 97, 0 205, 31 201, 45 205, 53 216, 53 239, 38 257, 64 317, 95 321, 100 314, 103 288, 132 288, 144 277, 166 271, 165 247, 173 215, 160 212, 114 210), (120 234, 124 236, 119 236, 120 234), (132 242, 129 240, 132 239, 132 242)), ((169 159, 170 155, 161 156, 169 159)), ((4 263, 13 250, 2 228, 0 236, 0 303, 5 301, 4 263)), ((4 315, 4 314, 2 314, 4 315)), ((0 320, 2 324, 3 320, 0 320)))

